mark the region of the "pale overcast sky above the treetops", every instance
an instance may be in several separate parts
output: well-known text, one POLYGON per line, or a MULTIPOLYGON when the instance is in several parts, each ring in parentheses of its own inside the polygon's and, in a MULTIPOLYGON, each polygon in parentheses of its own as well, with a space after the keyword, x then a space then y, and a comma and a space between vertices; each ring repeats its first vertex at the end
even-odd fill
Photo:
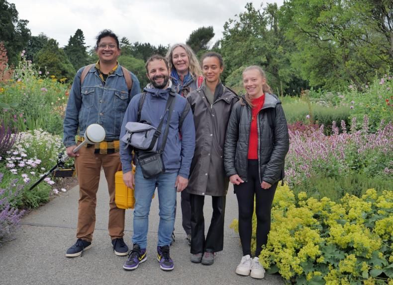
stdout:
MULTIPOLYGON (((8 0, 14 3, 19 19, 29 21, 33 36, 43 32, 67 45, 70 36, 81 29, 86 45, 93 46, 98 32, 109 28, 130 42, 168 45, 186 42, 190 33, 202 26, 213 26, 215 41, 222 37, 229 18, 245 11, 250 0, 8 0)), ((253 0, 261 3, 283 0, 253 0)))

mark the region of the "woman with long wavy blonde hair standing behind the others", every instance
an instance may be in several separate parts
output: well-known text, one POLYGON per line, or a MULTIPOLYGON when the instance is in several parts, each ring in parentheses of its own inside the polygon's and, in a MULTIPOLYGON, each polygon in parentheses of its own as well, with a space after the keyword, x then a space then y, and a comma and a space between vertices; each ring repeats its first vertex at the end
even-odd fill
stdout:
MULTIPOLYGON (((193 50, 186 44, 175 44, 167 52, 167 61, 169 63, 170 78, 173 89, 176 93, 186 97, 191 91, 200 87, 203 76, 202 71, 193 50)), ((182 225, 187 234, 187 240, 191 245, 191 204, 190 194, 182 191, 182 225)), ((175 208, 176 211, 176 208, 175 208)), ((176 212, 175 212, 176 216, 176 212)), ((172 234, 173 241, 175 234, 172 234)))

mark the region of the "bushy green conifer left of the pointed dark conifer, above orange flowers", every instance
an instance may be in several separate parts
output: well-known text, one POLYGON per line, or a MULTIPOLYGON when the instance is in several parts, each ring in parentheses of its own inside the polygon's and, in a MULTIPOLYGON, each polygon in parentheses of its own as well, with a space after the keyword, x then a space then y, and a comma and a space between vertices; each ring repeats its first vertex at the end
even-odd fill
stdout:
POLYGON ((54 75, 57 79, 65 77, 68 79, 67 82, 71 82, 76 73, 66 54, 62 49, 59 49, 59 44, 54 39, 48 40, 47 44, 37 53, 35 64, 42 73, 48 71, 49 75, 54 75))

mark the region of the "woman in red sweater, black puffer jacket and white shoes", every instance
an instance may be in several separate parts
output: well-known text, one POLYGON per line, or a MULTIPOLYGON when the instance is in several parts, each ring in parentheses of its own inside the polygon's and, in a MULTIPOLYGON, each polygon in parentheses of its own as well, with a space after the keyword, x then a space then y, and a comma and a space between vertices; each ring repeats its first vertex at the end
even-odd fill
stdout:
POLYGON ((239 275, 262 279, 259 262, 268 240, 271 209, 278 182, 284 178, 284 160, 289 149, 287 120, 276 95, 271 94, 265 72, 258 66, 243 71, 246 95, 234 106, 224 145, 226 175, 234 184, 239 207, 239 235, 243 257, 239 275), (254 197, 257 215, 257 247, 251 258, 254 197))

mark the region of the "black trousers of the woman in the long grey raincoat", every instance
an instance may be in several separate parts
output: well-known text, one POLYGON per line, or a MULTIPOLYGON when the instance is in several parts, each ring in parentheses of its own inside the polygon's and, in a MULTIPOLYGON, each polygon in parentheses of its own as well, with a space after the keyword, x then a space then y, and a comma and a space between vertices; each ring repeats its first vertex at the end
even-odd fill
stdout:
POLYGON ((191 253, 218 252, 224 246, 225 196, 211 196, 213 215, 206 238, 204 236, 204 196, 190 194, 191 253))

